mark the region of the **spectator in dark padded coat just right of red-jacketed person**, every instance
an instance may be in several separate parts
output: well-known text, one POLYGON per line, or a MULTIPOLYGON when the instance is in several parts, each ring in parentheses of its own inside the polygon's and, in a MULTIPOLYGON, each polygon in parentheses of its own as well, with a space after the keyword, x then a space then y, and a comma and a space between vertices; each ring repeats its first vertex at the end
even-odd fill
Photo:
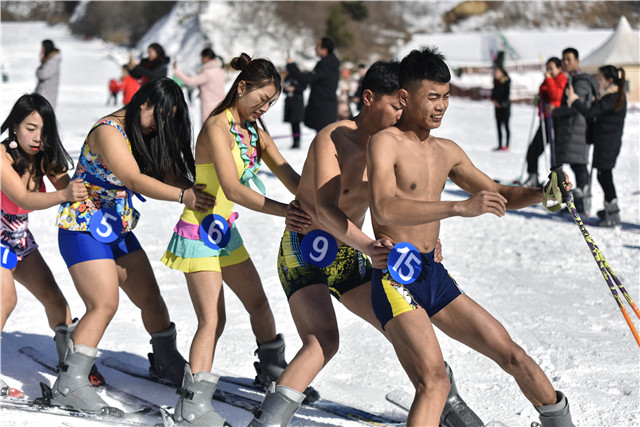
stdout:
MULTIPOLYGON (((562 68, 567 74, 567 85, 573 86, 586 108, 598 96, 598 87, 590 74, 580 71, 578 51, 566 48, 562 51, 562 68)), ((567 104, 566 93, 562 96, 560 107, 553 110, 553 129, 555 133, 556 165, 569 163, 576 177, 576 186, 572 190, 576 209, 580 214, 588 214, 591 208, 589 189, 589 146, 587 145, 588 128, 584 116, 567 104), (586 197, 585 197, 586 196, 586 197)))

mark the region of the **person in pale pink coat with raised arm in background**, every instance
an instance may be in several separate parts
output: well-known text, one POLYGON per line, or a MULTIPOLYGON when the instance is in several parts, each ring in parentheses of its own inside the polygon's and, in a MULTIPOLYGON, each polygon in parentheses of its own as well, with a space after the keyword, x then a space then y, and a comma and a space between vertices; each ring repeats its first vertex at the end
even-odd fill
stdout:
POLYGON ((225 96, 225 73, 222 59, 209 47, 200 53, 202 67, 195 76, 189 76, 178 68, 178 63, 173 63, 176 76, 188 86, 198 86, 200 89, 200 108, 202 123, 207 120, 209 114, 222 101, 225 96))

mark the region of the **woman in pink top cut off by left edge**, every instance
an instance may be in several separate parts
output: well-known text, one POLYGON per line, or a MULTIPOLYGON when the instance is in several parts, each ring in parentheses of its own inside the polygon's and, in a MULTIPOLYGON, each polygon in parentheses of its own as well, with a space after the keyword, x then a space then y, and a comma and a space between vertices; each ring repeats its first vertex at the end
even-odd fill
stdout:
MULTIPOLYGON (((20 282, 44 306, 49 327, 55 332, 58 360, 66 353, 66 338, 73 333, 69 305, 29 230, 29 212, 47 209, 65 201, 87 197, 82 180, 71 181, 72 165, 58 134, 53 107, 42 95, 22 95, 2 123, 2 306, 0 331, 17 304, 15 281, 20 282), (56 191, 47 192, 44 177, 56 191)), ((104 382, 94 372, 94 381, 104 382)), ((19 397, 0 379, 2 395, 19 397)))

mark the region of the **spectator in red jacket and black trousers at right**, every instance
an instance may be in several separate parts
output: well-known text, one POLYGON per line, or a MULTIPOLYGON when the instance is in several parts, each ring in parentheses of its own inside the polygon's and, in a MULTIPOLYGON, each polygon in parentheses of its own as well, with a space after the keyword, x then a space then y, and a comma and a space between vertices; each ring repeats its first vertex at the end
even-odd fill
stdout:
POLYGON ((553 138, 553 119, 551 112, 554 108, 560 106, 562 93, 566 85, 567 76, 562 72, 562 61, 556 57, 549 58, 544 73, 544 81, 540 85, 538 92, 538 114, 541 119, 540 126, 538 126, 538 131, 527 150, 527 172, 529 176, 523 183, 525 187, 537 187, 539 185, 538 157, 544 152, 545 144, 545 138, 543 138, 542 132, 545 132, 546 141, 551 141, 553 138))

